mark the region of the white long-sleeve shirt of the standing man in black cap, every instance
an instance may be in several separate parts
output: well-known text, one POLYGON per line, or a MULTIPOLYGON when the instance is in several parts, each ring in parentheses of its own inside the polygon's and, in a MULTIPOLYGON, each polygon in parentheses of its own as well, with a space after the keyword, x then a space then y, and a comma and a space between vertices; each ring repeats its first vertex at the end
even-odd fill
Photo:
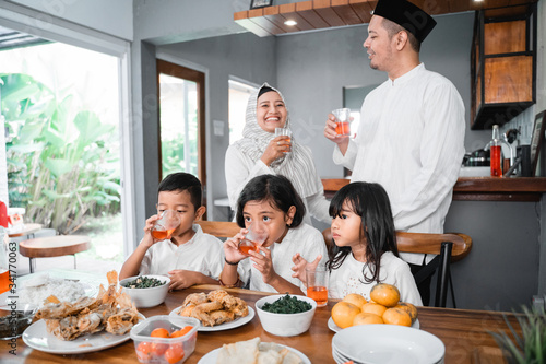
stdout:
MULTIPOLYGON (((420 63, 375 89, 360 113, 356 138, 345 155, 334 149, 334 162, 353 171, 352 181, 383 186, 396 230, 442 233, 464 156, 464 104, 455 86, 420 63)), ((423 262, 422 255, 401 257, 423 262)))

